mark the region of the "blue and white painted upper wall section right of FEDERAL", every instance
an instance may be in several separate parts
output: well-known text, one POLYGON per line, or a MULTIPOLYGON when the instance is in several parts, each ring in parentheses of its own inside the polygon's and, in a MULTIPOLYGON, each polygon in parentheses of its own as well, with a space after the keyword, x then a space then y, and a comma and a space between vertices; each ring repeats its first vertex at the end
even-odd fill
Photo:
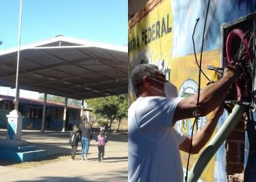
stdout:
MULTIPOLYGON (((200 52, 202 31, 205 24, 207 0, 171 0, 173 11, 173 57, 192 54, 192 33, 196 19, 200 18, 194 40, 196 52, 200 52), (186 44, 186 46, 184 46, 186 44)), ((204 51, 221 49, 221 25, 247 16, 256 9, 255 0, 211 0, 205 30, 204 51)))

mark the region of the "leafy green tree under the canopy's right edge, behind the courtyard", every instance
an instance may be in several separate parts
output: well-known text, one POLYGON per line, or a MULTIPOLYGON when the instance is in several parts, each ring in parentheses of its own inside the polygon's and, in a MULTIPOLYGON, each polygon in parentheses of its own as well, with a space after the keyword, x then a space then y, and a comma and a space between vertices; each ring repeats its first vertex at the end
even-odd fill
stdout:
MULTIPOLYGON (((98 116, 107 118, 110 121, 110 129, 114 119, 119 119, 119 126, 121 119, 127 117, 128 113, 128 97, 127 94, 118 96, 107 96, 103 98, 92 98, 86 100, 89 108, 93 109, 98 116)), ((117 128, 119 131, 119 127, 117 128)))

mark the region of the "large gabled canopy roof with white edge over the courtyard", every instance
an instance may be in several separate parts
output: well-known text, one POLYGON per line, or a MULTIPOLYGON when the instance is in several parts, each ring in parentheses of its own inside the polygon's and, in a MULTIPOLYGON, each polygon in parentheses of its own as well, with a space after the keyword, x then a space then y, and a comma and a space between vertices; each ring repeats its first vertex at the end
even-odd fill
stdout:
MULTIPOLYGON (((15 87, 17 48, 0 51, 0 85, 15 87)), ((20 47, 18 88, 81 100, 127 93, 127 47, 56 36, 20 47)))

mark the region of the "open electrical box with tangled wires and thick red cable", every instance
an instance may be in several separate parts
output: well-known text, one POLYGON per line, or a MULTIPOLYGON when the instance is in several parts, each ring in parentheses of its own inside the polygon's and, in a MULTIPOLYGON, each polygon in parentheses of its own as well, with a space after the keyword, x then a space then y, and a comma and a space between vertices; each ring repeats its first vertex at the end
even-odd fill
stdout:
POLYGON ((242 102, 255 107, 255 25, 256 13, 222 26, 221 66, 239 63, 240 75, 233 84, 226 103, 242 102))

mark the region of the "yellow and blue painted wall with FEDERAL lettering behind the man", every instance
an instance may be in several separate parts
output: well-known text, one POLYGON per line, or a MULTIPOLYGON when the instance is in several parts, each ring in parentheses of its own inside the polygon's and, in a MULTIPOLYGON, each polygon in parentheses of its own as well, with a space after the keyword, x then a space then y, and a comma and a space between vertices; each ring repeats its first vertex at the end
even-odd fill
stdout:
MULTIPOLYGON (((211 80, 217 80, 217 73, 207 70, 206 65, 221 65, 222 24, 247 16, 255 11, 255 8, 255 0, 211 0, 202 53, 202 70, 211 80)), ((129 30, 129 73, 137 64, 153 63, 165 73, 167 80, 177 86, 179 96, 196 93, 198 67, 193 54, 192 33, 196 18, 200 18, 194 34, 199 59, 206 10, 207 1, 205 0, 163 0, 158 3, 129 30)), ((208 81, 203 75, 201 79, 201 88, 203 88, 208 81)), ((135 100, 130 87, 129 98, 130 102, 135 100)), ((223 114, 217 129, 227 116, 227 113, 223 114)), ((208 117, 200 119, 198 130, 207 122, 208 117)), ((178 121, 175 127, 179 131, 190 134, 192 121, 193 119, 178 121)), ((199 155, 192 155, 190 168, 199 155)), ((226 181, 224 155, 222 145, 202 173, 200 181, 226 181)), ((181 152, 181 156, 185 169, 188 154, 181 152)))

